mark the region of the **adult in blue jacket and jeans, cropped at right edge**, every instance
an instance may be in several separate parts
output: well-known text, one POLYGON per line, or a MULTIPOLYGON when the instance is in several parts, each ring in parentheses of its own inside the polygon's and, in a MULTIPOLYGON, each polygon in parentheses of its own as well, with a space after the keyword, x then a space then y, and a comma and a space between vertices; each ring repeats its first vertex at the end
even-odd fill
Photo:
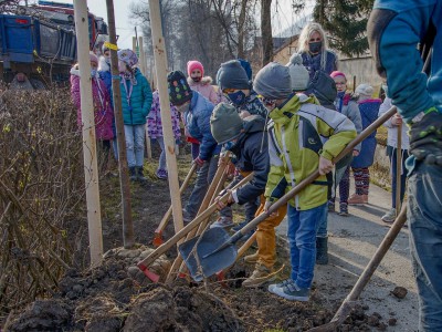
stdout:
POLYGON ((419 331, 442 331, 442 1, 376 1, 368 38, 387 94, 410 126, 408 222, 419 331))

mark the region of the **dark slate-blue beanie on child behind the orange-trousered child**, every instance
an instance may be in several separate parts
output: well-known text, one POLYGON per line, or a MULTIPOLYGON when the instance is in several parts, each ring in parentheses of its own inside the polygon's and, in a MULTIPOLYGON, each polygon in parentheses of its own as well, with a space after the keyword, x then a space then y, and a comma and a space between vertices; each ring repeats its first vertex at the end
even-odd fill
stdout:
POLYGON ((221 63, 217 73, 217 83, 224 89, 250 89, 248 73, 238 60, 221 63))

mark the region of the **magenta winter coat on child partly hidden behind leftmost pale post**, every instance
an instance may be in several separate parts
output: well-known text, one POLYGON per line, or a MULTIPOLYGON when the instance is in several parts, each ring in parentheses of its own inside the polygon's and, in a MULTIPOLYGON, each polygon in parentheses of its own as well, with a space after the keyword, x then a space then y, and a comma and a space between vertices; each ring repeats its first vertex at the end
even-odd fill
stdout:
MULTIPOLYGON (((82 108, 80 98, 80 71, 75 69, 71 70, 71 95, 77 110, 76 122, 81 128, 82 108)), ((112 129, 114 112, 110 104, 110 97, 106 85, 98 77, 93 77, 92 80, 92 98, 94 102, 96 138, 99 141, 108 141, 114 138, 114 133, 112 129)))

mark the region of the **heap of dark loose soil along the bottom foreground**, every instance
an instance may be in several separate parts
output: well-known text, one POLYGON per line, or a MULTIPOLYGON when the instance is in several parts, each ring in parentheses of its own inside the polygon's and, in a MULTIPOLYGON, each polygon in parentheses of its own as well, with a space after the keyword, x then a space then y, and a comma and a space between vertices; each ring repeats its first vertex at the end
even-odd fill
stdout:
MULTIPOLYGON (((70 270, 52 299, 35 301, 11 317, 8 331, 306 331, 333 317, 334 311, 326 309, 330 303, 315 286, 308 302, 286 301, 265 287, 241 288, 253 269, 243 262, 223 282, 211 278, 204 286, 177 282, 172 288, 152 283, 134 268, 151 251, 118 248, 106 252, 99 268, 84 273, 70 270)), ((150 270, 161 281, 169 268, 170 261, 162 256, 150 270)), ((366 314, 367 310, 356 305, 339 331, 388 326, 379 314, 366 314)))

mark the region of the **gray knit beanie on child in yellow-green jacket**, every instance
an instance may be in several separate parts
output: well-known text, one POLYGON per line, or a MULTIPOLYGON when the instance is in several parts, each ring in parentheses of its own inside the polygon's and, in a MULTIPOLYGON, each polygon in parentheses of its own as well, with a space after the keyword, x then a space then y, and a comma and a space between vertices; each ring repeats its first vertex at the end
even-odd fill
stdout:
POLYGON ((253 81, 253 89, 266 98, 287 98, 292 93, 288 68, 277 62, 266 64, 257 72, 253 81))

